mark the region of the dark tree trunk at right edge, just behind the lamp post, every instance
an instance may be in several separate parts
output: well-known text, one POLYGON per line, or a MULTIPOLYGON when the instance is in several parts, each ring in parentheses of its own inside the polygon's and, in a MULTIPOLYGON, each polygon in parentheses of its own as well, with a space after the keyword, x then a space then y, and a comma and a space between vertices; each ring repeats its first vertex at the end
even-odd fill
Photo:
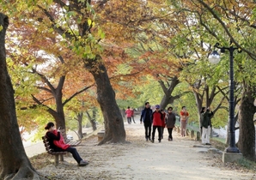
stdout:
POLYGON ((245 158, 255 160, 255 127, 253 116, 256 108, 253 105, 253 90, 251 88, 248 90, 248 88, 241 98, 239 109, 240 131, 237 145, 245 158))

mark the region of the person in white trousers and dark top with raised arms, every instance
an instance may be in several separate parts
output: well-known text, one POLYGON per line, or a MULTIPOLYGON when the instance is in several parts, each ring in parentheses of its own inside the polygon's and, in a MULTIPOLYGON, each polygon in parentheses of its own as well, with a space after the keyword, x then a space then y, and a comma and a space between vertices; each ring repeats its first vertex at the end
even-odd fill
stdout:
POLYGON ((210 111, 210 107, 207 109, 202 107, 201 111, 201 119, 202 119, 202 144, 203 145, 210 145, 210 127, 211 127, 211 120, 210 118, 213 117, 213 112, 210 111))

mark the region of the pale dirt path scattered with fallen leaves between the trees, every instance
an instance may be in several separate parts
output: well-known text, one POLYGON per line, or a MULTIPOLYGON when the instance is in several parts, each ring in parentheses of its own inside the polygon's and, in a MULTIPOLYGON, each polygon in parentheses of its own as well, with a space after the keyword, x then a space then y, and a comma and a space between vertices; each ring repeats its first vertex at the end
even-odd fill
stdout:
MULTIPOLYGON (((190 179, 241 180, 256 179, 255 173, 228 170, 221 163, 220 153, 212 153, 197 141, 181 138, 174 132, 174 141, 168 141, 167 131, 161 143, 144 140, 143 124, 125 123, 127 141, 122 145, 95 146, 97 137, 82 142, 78 152, 90 164, 79 167, 72 157, 55 167, 39 170, 52 179, 190 179), (194 147, 197 145, 198 147, 194 147)), ((157 133, 156 133, 157 135, 157 133)), ((157 138, 156 138, 157 140, 157 138)), ((214 149, 213 149, 214 150, 214 149)), ((52 157, 53 159, 53 157, 52 157)))

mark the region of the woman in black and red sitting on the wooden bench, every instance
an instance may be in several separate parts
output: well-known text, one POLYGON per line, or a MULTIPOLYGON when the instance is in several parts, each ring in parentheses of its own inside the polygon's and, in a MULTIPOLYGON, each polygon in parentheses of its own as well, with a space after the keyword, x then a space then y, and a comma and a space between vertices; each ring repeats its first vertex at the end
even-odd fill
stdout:
POLYGON ((69 153, 72 153, 73 158, 76 159, 76 162, 79 166, 88 165, 88 161, 83 160, 79 153, 77 153, 75 147, 70 147, 70 145, 64 143, 64 138, 62 135, 60 135, 59 129, 56 130, 54 127, 54 123, 50 122, 46 125, 46 138, 49 141, 50 147, 55 152, 64 152, 67 151, 69 153))

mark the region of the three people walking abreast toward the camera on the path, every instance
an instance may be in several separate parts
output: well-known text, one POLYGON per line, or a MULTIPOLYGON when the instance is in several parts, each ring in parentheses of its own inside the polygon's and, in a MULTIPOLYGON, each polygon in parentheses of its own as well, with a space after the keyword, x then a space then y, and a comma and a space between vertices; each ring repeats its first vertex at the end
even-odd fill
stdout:
POLYGON ((149 102, 145 103, 145 108, 141 113, 140 123, 144 124, 146 141, 155 142, 155 130, 158 131, 158 141, 163 139, 163 131, 168 129, 168 141, 173 141, 173 129, 176 122, 176 116, 173 112, 173 107, 168 107, 168 113, 160 109, 160 105, 155 105, 155 111, 150 108, 149 102), (151 127, 153 131, 151 136, 151 127), (152 139, 151 139, 152 137, 152 139))

